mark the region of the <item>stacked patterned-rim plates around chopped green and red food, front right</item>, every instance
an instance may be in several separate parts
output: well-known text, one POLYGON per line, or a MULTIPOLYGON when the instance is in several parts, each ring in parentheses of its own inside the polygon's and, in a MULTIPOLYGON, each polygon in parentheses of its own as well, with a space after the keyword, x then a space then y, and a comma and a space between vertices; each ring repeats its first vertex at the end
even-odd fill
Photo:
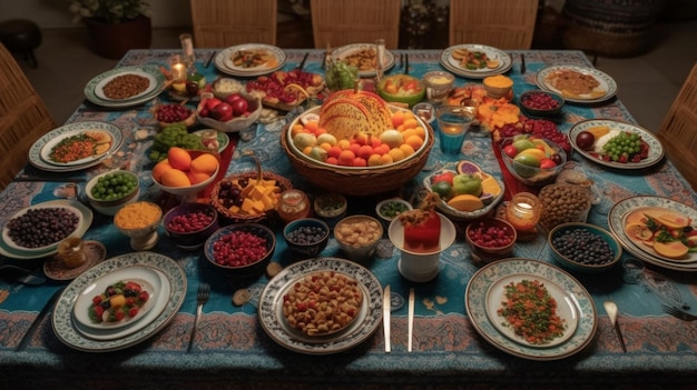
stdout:
POLYGON ((472 326, 498 349, 530 360, 556 360, 581 351, 598 328, 590 293, 566 271, 531 259, 505 259, 482 267, 470 279, 464 302, 472 326), (536 344, 517 336, 498 310, 505 301, 504 288, 523 280, 539 281, 557 301, 563 333, 547 343, 536 344))

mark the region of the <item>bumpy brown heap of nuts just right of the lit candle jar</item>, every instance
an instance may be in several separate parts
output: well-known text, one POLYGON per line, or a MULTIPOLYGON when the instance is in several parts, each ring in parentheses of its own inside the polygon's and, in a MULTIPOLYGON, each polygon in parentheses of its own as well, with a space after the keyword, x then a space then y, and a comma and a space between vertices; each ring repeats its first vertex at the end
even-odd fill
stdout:
POLYGON ((540 189, 538 193, 542 212, 538 224, 544 231, 566 222, 586 222, 592 196, 587 188, 575 184, 554 183, 540 189))

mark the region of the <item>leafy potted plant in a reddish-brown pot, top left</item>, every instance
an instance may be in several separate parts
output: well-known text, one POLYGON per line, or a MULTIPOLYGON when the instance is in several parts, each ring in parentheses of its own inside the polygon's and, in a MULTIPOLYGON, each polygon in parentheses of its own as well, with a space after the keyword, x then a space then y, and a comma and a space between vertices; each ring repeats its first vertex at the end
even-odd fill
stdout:
POLYGON ((70 12, 85 22, 99 56, 120 59, 130 49, 150 47, 147 0, 70 0, 70 12))

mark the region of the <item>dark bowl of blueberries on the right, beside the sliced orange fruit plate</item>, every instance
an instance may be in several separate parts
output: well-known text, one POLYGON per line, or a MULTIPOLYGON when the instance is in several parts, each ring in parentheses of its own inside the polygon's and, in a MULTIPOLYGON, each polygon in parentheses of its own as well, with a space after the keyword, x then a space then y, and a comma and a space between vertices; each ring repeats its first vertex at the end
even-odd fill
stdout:
POLYGON ((549 232, 547 240, 554 261, 570 271, 603 272, 617 264, 622 254, 615 236, 591 223, 561 223, 549 232))

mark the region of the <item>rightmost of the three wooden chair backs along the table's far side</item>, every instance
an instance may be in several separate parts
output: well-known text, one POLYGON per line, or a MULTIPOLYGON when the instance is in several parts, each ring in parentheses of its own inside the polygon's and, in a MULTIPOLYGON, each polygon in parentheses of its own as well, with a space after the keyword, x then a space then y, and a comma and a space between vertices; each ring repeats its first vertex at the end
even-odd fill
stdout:
POLYGON ((539 0, 451 0, 450 46, 530 49, 539 0))

